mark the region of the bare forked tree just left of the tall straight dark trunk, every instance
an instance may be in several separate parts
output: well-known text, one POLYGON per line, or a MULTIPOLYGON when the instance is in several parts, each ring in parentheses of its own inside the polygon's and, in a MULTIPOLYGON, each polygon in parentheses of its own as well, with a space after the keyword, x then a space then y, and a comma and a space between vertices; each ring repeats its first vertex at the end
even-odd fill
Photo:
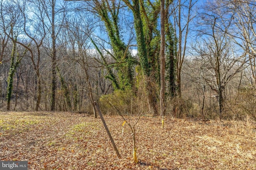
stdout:
POLYGON ((47 31, 44 24, 45 12, 43 9, 44 2, 35 1, 34 3, 28 4, 25 0, 23 4, 19 6, 20 12, 22 13, 24 20, 23 31, 30 41, 33 42, 32 46, 22 44, 28 51, 30 51, 30 59, 33 64, 34 71, 36 72, 36 107, 35 110, 38 111, 40 107, 41 94, 42 94, 42 82, 40 73, 40 63, 41 63, 41 47, 43 45, 44 38, 46 37, 47 31), (32 26, 32 28, 31 28, 32 26), (34 50, 33 46, 36 47, 34 50))

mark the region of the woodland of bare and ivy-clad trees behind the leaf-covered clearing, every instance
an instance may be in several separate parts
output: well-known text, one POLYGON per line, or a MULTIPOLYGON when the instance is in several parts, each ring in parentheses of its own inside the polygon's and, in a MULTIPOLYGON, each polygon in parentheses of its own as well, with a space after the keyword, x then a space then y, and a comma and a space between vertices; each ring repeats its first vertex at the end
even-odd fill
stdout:
POLYGON ((162 3, 165 72, 160 0, 1 0, 0 109, 256 118, 256 2, 162 3))

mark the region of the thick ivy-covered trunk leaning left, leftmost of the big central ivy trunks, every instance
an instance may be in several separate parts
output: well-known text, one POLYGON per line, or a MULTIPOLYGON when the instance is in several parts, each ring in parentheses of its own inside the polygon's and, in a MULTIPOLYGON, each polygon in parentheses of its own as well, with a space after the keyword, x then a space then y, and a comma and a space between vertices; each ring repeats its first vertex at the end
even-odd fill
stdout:
MULTIPOLYGON (((112 46, 114 54, 112 58, 116 61, 117 75, 119 82, 115 82, 116 79, 110 79, 114 83, 115 89, 128 90, 132 89, 134 71, 132 69, 133 59, 130 51, 128 51, 127 45, 121 40, 120 27, 118 25, 118 14, 120 9, 120 3, 116 1, 103 0, 99 2, 94 0, 95 10, 104 22, 108 37, 110 39, 110 45, 112 46), (115 80, 115 81, 114 81, 115 80), (117 86, 117 84, 119 84, 117 86)), ((104 63, 105 64, 105 63, 104 63)), ((106 63, 107 64, 107 63, 106 63)), ((109 75, 108 78, 114 78, 113 75, 109 75)))

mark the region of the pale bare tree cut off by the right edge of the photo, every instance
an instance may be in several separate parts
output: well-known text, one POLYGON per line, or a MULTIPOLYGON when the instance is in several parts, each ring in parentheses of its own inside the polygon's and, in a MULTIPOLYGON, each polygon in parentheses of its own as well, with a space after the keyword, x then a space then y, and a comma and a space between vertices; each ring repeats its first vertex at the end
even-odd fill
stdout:
POLYGON ((236 44, 248 54, 248 64, 251 69, 252 86, 254 95, 256 89, 256 2, 254 0, 222 0, 224 4, 221 10, 228 11, 232 15, 233 37, 236 44))

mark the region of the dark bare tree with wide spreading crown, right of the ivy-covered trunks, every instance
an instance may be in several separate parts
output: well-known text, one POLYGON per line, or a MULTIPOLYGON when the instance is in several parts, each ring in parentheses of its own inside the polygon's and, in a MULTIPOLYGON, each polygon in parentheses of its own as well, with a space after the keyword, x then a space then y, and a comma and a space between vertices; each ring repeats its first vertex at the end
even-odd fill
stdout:
POLYGON ((197 56, 202 60, 200 69, 205 70, 202 78, 216 92, 218 116, 222 115, 225 104, 225 88, 228 82, 242 70, 246 53, 237 53, 234 42, 229 36, 232 15, 225 18, 214 4, 207 6, 206 13, 201 15, 202 43, 194 46, 197 56), (208 13, 207 13, 208 12, 208 13))

